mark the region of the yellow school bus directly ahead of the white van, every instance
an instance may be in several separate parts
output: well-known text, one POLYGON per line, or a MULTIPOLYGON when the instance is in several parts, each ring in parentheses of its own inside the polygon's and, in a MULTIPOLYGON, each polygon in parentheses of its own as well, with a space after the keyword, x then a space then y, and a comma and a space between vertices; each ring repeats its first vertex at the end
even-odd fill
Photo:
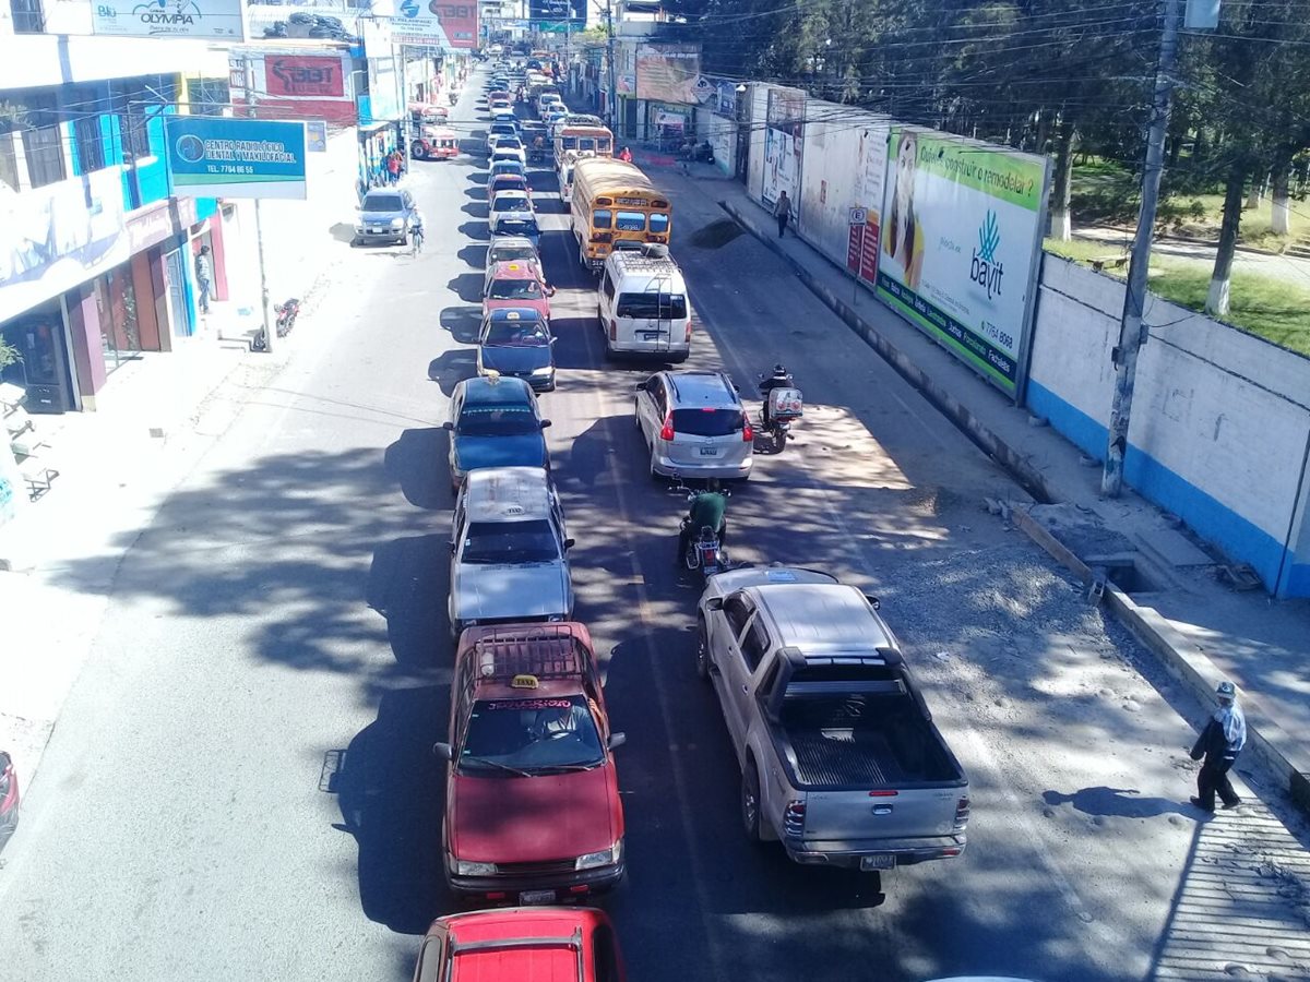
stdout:
POLYGON ((613 157, 583 157, 574 165, 570 223, 578 258, 600 272, 612 249, 668 244, 669 200, 638 168, 613 157))

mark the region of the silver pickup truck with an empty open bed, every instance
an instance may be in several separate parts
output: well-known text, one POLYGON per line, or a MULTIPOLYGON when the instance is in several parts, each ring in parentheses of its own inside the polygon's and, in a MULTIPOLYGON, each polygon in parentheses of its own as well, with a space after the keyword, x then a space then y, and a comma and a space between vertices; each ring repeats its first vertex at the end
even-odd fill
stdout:
POLYGON ((741 821, 796 863, 891 869, 964 851, 968 779, 876 601, 832 576, 711 576, 697 672, 741 766, 741 821))

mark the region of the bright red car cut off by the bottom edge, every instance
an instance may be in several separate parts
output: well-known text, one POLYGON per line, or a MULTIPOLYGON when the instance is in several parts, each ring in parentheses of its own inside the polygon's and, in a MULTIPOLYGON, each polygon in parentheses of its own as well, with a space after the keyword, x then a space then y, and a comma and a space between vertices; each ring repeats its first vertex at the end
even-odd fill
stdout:
POLYGON ((614 926, 591 907, 515 907, 432 922, 414 982, 624 982, 614 926))

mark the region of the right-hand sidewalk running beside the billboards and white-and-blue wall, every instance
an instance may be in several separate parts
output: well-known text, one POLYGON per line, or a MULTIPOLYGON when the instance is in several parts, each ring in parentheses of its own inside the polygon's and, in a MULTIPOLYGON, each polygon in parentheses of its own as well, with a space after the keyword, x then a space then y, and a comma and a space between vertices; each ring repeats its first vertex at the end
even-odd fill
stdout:
POLYGON ((779 240, 772 217, 743 185, 689 179, 676 170, 659 177, 679 192, 718 200, 984 452, 1049 503, 1013 517, 1093 589, 1103 587, 1116 615, 1203 706, 1216 704, 1221 678, 1237 682, 1250 754, 1310 812, 1310 601, 1234 591, 1220 581, 1220 562, 1204 543, 1170 516, 1131 491, 1103 499, 1098 464, 1014 407, 794 233, 779 240))

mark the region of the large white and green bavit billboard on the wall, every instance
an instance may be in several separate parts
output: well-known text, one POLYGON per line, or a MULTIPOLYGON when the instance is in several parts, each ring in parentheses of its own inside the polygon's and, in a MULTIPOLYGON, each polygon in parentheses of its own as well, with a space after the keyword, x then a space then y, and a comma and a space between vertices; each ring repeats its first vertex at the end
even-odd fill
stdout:
POLYGON ((1044 157, 892 127, 878 296, 1011 397, 1045 190, 1044 157))

